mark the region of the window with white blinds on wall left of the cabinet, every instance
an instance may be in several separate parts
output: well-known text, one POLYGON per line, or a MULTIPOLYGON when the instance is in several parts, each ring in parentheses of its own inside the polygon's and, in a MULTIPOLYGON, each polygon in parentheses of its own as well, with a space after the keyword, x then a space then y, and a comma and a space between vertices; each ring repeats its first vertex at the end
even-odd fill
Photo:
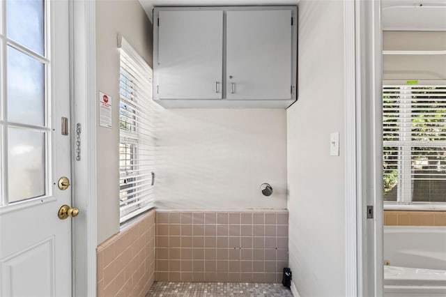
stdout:
POLYGON ((119 209, 125 222, 153 206, 153 72, 124 38, 120 41, 119 209))

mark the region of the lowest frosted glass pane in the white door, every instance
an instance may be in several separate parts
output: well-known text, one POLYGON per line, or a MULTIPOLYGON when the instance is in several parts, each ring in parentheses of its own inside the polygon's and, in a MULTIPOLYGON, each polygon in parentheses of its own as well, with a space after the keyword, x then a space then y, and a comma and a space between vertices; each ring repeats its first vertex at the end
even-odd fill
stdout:
POLYGON ((9 202, 45 195, 45 132, 8 128, 9 202))

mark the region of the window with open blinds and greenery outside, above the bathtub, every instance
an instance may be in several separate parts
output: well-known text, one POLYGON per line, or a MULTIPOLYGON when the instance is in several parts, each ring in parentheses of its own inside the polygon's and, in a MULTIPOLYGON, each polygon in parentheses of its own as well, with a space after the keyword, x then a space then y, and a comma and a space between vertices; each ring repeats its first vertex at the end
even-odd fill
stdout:
POLYGON ((385 201, 446 202, 446 84, 383 86, 385 201))

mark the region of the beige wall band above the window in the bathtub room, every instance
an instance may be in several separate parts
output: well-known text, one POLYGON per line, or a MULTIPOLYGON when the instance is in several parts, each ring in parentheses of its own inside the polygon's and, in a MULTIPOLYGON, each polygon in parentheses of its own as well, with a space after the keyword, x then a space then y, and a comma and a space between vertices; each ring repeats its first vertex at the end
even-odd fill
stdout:
MULTIPOLYGON (((446 31, 384 31, 383 50, 446 50, 446 31)), ((446 55, 384 55, 383 79, 446 79, 446 55)))

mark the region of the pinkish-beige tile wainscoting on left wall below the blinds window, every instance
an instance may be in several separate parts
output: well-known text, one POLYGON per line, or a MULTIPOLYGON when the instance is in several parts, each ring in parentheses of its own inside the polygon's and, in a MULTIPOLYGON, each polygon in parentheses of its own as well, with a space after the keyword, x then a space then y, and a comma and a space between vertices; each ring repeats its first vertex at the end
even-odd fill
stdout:
POLYGON ((155 278, 155 210, 98 245, 98 297, 146 296, 155 278))

